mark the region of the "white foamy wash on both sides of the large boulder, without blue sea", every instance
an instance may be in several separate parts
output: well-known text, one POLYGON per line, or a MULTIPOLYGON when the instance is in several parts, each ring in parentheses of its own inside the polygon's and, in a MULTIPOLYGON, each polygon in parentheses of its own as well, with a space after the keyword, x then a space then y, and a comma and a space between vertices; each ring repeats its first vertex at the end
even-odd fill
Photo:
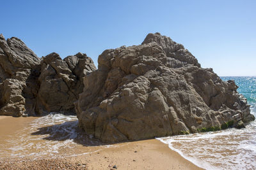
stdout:
MULTIPOLYGON (((0 148, 6 148, 0 150, 0 155, 38 158, 93 153, 83 151, 76 154, 60 153, 63 148, 72 151, 72 148, 79 146, 80 144, 75 140, 99 145, 93 141, 93 136, 83 136, 77 131, 77 124, 76 116, 59 113, 37 118, 28 128, 17 132, 17 138, 8 141, 7 145, 0 145, 0 148), (38 134, 30 135, 33 132, 38 134)), ((246 126, 246 129, 227 129, 157 139, 166 143, 185 159, 205 169, 256 169, 256 122, 246 126)), ((102 148, 110 147, 115 148, 118 145, 102 146, 102 148)))

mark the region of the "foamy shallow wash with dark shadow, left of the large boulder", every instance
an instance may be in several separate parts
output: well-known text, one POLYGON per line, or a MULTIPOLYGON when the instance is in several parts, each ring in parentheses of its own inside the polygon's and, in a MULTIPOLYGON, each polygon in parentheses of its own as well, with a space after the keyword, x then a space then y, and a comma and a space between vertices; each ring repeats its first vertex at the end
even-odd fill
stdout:
MULTIPOLYGON (((29 127, 17 132, 16 137, 10 139, 6 146, 0 145, 0 154, 9 155, 10 157, 59 157, 74 155, 72 148, 81 146, 81 144, 99 144, 97 141, 81 134, 77 124, 76 116, 60 113, 51 113, 45 117, 36 118, 29 127), (7 149, 2 152, 1 148, 7 149), (70 152, 60 153, 63 149, 68 149, 70 152)), ((83 153, 81 150, 77 154, 87 153, 89 152, 83 153)))

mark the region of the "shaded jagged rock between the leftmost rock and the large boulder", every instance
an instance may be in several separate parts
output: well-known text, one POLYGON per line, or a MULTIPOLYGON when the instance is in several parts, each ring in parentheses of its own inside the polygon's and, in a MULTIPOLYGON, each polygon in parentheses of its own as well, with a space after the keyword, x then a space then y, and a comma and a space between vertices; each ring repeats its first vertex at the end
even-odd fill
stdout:
POLYGON ((43 57, 36 111, 41 115, 49 111, 74 111, 74 102, 83 92, 83 77, 95 69, 92 59, 85 53, 63 60, 58 53, 43 57))

